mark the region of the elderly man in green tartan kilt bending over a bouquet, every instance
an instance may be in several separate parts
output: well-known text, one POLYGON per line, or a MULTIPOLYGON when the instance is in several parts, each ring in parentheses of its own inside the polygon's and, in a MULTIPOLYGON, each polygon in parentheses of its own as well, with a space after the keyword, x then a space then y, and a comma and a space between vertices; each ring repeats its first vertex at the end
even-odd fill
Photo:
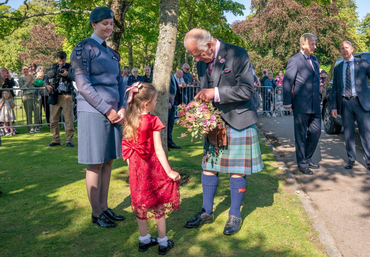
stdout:
POLYGON ((218 186, 218 173, 229 173, 231 207, 223 234, 232 235, 240 230, 242 223, 240 206, 246 187, 245 175, 263 168, 255 125, 258 115, 253 104, 254 83, 249 57, 244 48, 213 38, 208 31, 199 28, 186 33, 184 45, 198 61, 202 90, 195 98, 213 102, 225 121, 227 136, 227 144, 224 140, 221 146, 217 141, 214 144, 205 139, 203 206, 184 226, 195 228, 214 221, 213 198, 218 186))

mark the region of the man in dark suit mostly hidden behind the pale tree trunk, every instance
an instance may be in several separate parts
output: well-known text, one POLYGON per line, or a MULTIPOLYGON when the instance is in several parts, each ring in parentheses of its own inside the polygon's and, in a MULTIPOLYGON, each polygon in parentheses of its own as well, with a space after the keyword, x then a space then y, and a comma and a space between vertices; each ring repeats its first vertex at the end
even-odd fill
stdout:
POLYGON ((168 151, 170 148, 181 148, 174 143, 172 140, 172 130, 174 129, 175 123, 175 112, 176 106, 181 104, 181 92, 179 85, 176 82, 174 74, 171 72, 171 81, 169 85, 169 102, 168 102, 168 122, 167 122, 167 146, 168 151))

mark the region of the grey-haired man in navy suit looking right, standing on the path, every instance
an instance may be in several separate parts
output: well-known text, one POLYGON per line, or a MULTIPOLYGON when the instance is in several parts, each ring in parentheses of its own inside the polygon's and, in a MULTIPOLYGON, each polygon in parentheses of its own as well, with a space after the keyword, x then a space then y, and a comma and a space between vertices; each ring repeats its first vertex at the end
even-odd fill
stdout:
POLYGON ((283 104, 285 109, 293 109, 298 170, 305 175, 313 174, 310 168, 320 168, 312 161, 321 134, 319 60, 312 56, 316 40, 311 33, 300 37, 301 50, 289 58, 283 80, 283 95, 288 96, 283 104))

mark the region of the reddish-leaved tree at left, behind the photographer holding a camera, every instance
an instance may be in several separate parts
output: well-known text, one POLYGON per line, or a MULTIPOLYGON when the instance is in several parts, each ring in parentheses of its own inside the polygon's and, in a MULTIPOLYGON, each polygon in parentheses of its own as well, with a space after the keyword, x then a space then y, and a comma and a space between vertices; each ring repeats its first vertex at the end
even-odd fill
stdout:
POLYGON ((62 50, 64 37, 55 33, 55 25, 43 23, 32 27, 28 40, 21 40, 24 52, 18 54, 21 62, 28 64, 35 62, 37 65, 48 65, 55 62, 55 56, 62 50))

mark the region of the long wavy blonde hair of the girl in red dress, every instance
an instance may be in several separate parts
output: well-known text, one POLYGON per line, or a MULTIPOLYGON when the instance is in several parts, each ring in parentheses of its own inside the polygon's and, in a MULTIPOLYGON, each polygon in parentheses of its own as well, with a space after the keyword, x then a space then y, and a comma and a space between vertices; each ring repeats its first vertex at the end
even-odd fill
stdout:
POLYGON ((125 112, 125 122, 122 129, 123 139, 137 140, 141 114, 145 111, 144 105, 153 101, 155 94, 157 94, 157 89, 151 83, 142 83, 139 92, 134 93, 125 112))

